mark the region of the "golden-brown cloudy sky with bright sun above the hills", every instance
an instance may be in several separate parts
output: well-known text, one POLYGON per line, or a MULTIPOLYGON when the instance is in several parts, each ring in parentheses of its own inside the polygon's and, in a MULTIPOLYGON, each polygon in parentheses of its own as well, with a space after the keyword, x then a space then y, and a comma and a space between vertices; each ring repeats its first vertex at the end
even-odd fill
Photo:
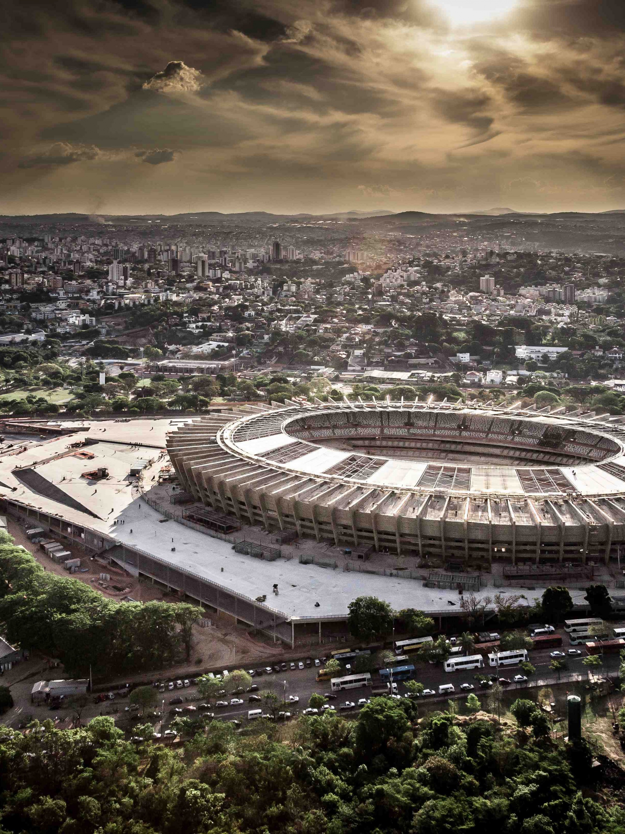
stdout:
POLYGON ((623 0, 5 0, 0 213, 625 208, 623 0))

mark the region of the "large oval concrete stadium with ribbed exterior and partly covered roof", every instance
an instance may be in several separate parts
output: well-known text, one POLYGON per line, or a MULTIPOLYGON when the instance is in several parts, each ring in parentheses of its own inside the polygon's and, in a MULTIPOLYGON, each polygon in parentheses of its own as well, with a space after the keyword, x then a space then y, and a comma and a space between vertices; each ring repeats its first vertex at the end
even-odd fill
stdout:
POLYGON ((168 435, 183 488, 241 524, 461 570, 620 559, 623 418, 461 402, 243 409, 168 435))

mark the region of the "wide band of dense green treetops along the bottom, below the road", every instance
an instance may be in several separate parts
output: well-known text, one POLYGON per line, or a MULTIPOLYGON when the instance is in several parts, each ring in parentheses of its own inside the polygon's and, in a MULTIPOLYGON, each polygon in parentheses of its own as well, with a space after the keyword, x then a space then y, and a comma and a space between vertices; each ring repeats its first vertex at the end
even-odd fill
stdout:
POLYGON ((241 734, 213 721, 184 750, 123 741, 107 717, 24 735, 2 727, 0 825, 16 834, 621 834, 621 807, 588 796, 587 746, 555 746, 532 724, 532 706, 518 702, 519 729, 506 734, 440 712, 417 726, 412 702, 378 698, 357 721, 257 722, 241 734))

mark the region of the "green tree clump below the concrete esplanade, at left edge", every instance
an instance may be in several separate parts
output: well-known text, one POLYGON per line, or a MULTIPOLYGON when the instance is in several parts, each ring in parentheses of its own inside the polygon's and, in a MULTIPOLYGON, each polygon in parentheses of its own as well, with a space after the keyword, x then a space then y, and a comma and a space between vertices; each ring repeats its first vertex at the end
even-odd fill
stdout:
POLYGON ((0 624, 13 645, 62 661, 70 676, 157 669, 191 640, 193 605, 108 600, 79 580, 43 570, 0 534, 0 624))

